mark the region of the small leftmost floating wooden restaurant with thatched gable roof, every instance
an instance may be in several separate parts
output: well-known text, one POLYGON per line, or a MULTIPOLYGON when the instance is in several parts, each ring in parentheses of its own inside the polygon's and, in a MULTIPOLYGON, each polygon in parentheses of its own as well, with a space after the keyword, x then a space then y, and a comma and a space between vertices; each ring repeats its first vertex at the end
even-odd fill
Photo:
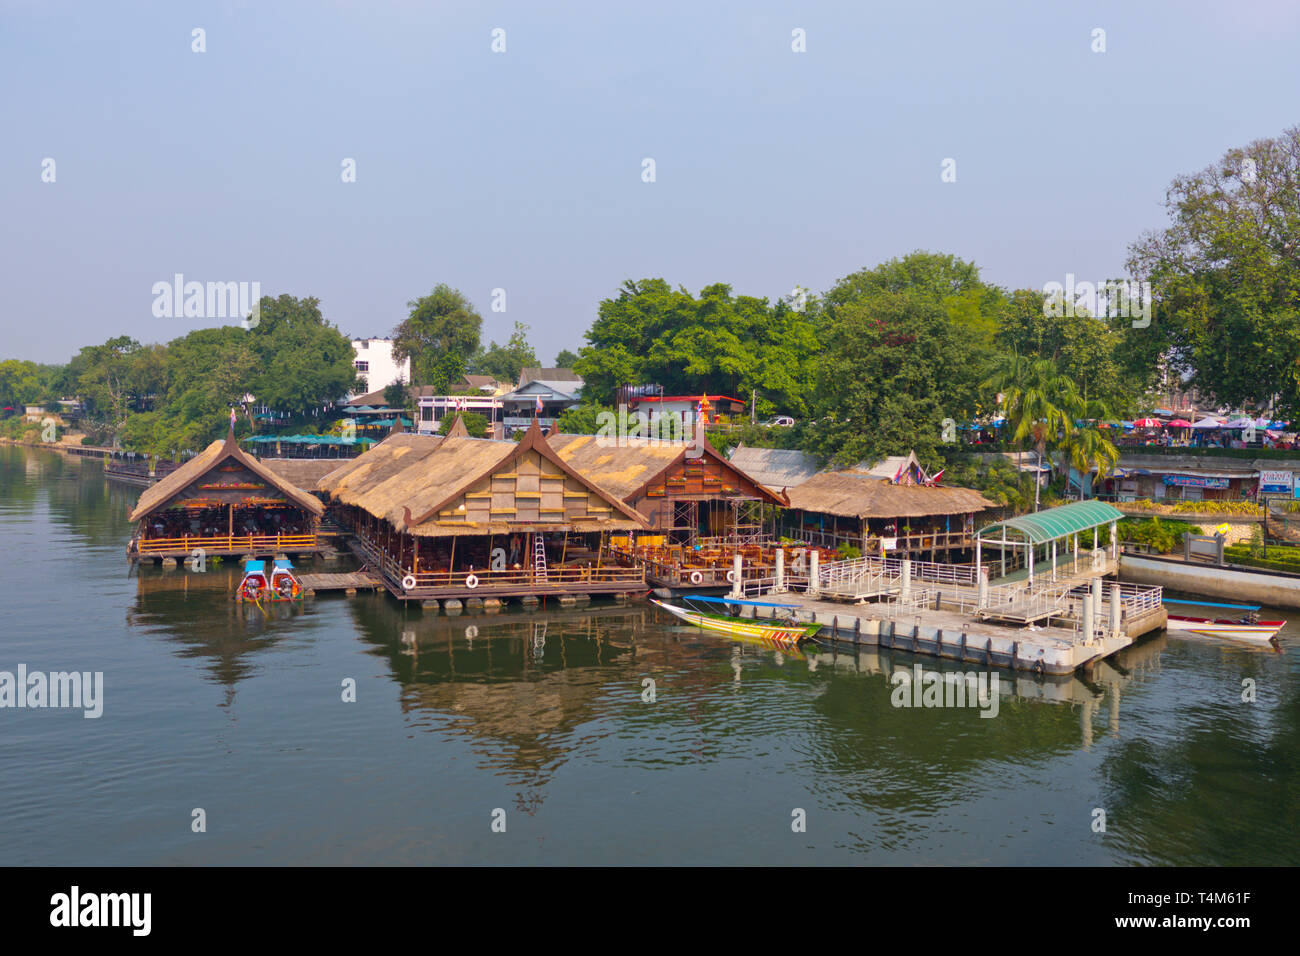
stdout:
POLYGON ((316 551, 325 507, 239 450, 234 429, 140 494, 127 557, 316 551))

